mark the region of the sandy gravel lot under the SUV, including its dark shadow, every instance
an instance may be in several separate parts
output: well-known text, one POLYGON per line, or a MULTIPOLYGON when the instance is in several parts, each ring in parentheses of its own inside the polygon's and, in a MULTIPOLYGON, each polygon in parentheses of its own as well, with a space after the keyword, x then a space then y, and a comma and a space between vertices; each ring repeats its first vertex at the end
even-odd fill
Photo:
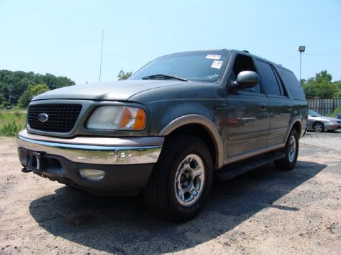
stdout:
POLYGON ((141 196, 23 174, 15 140, 0 143, 0 254, 341 254, 341 133, 308 132, 293 171, 270 164, 215 182, 182 225, 149 215, 141 196))

